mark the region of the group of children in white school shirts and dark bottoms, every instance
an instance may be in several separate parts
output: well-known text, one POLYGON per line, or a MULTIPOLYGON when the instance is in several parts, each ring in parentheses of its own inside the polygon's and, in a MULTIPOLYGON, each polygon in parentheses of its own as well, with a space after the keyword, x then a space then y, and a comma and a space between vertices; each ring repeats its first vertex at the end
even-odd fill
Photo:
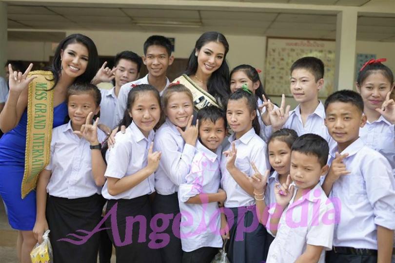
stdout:
MULTIPOLYGON (((108 219, 103 230, 117 262, 210 263, 224 243, 232 263, 391 262, 395 102, 388 67, 367 64, 359 94, 338 91, 322 104, 324 65, 300 58, 290 85, 299 104, 290 111, 284 96, 277 107, 264 94, 254 67, 240 65, 223 109, 208 106, 194 116, 191 91, 166 78, 173 61, 166 38, 147 39, 149 73, 134 82, 141 61, 131 57, 122 52, 114 70, 99 70, 96 81, 115 76, 114 90, 74 84, 67 91, 70 121, 53 130, 33 230, 39 241, 51 230, 55 262, 97 261, 99 234, 81 245, 59 240, 95 228, 102 198, 104 213, 117 208, 117 229, 108 219), (105 126, 126 129, 102 149, 101 116, 114 115, 105 126), (145 228, 156 231, 141 235, 145 228)), ((205 70, 221 66, 212 61, 205 70)))

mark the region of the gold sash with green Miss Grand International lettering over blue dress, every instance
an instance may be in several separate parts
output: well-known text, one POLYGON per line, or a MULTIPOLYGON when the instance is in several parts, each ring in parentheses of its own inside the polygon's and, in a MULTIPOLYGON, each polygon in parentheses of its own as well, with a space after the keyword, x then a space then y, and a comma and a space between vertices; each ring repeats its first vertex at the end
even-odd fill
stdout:
POLYGON ((37 75, 29 83, 27 101, 25 172, 21 195, 24 198, 36 188, 39 173, 51 156, 51 137, 54 119, 54 76, 50 71, 32 71, 37 75))

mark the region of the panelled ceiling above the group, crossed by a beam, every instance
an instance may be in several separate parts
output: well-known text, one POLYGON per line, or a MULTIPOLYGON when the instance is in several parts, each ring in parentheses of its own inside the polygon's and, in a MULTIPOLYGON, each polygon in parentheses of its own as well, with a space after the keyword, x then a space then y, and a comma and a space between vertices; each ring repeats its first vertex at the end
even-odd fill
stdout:
MULTIPOLYGON (((229 0, 227 0, 229 1, 229 0)), ((375 0, 234 0, 362 6, 375 0)), ((8 39, 57 42, 65 30, 116 30, 143 32, 201 33, 290 38, 334 39, 336 15, 278 12, 173 10, 149 8, 23 6, 8 5, 8 39), (20 34, 15 30, 48 30, 51 34, 20 34), (43 36, 45 35, 45 37, 43 36)), ((358 40, 395 42, 394 17, 359 16, 358 40), (374 32, 374 33, 372 33, 374 32)))

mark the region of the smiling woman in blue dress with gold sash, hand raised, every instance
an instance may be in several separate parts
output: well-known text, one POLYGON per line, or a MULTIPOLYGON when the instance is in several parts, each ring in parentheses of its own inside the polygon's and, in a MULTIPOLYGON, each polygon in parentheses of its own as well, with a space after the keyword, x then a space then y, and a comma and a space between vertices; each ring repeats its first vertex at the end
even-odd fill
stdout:
POLYGON ((49 71, 30 72, 32 66, 24 74, 9 67, 10 92, 0 114, 0 129, 5 132, 0 139, 0 195, 9 224, 19 230, 21 263, 31 262, 30 251, 37 242, 32 231, 34 189, 49 162, 52 128, 65 123, 68 87, 95 76, 98 52, 92 39, 73 34, 59 43, 49 71))

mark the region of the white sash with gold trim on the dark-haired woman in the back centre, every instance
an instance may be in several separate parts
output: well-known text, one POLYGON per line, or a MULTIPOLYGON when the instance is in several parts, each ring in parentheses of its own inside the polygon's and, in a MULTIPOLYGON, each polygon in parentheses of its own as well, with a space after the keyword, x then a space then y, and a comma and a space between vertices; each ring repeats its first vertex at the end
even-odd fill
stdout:
POLYGON ((214 105, 218 108, 217 100, 208 92, 197 86, 197 84, 187 75, 183 74, 173 80, 173 83, 179 83, 187 87, 193 96, 195 110, 198 112, 206 106, 214 105))

